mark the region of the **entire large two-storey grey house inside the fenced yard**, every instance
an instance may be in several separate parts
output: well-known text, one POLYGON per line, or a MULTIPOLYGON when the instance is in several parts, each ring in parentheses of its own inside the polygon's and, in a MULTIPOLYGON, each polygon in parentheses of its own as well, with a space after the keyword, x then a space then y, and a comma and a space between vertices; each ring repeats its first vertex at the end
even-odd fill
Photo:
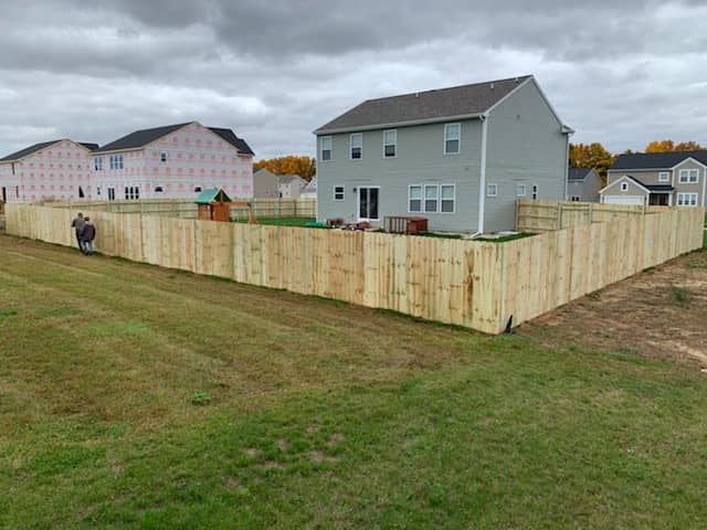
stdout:
POLYGON ((315 131, 317 218, 514 229, 518 198, 564 199, 571 132, 532 76, 366 100, 315 131))

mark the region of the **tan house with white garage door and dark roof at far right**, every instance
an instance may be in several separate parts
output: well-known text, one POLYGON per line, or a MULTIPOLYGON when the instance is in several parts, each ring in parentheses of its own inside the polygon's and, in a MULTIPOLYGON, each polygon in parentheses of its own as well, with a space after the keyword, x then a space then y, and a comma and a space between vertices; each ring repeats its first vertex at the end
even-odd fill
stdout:
POLYGON ((600 190, 608 204, 704 206, 707 151, 621 155, 600 190))

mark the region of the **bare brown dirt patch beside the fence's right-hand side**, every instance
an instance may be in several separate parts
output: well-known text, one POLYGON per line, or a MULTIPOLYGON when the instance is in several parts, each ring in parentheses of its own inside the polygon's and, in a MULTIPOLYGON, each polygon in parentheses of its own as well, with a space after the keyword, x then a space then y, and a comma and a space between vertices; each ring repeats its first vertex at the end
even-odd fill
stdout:
POLYGON ((556 347, 592 347, 707 367, 707 251, 651 268, 518 328, 556 347))

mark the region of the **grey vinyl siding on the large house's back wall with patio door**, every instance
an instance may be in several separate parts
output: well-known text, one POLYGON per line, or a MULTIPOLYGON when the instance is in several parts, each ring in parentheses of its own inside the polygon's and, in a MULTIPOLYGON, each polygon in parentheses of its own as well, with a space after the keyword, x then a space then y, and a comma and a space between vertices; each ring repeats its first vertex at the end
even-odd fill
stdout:
POLYGON ((444 123, 399 127, 395 158, 383 158, 383 129, 362 131, 362 158, 351 160, 349 134, 331 137, 331 160, 320 160, 317 138, 317 219, 358 221, 354 188, 380 187, 379 223, 386 215, 423 215, 430 230, 474 232, 478 220, 481 121, 464 120, 458 155, 444 155, 444 123), (409 213, 410 184, 455 184, 455 213, 409 213), (334 201, 344 186, 345 200, 334 201))

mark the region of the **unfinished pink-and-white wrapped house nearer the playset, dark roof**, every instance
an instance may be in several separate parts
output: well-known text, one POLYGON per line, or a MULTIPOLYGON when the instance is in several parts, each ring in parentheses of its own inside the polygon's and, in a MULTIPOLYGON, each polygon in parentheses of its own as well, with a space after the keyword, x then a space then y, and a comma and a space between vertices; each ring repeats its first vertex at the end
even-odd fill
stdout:
POLYGON ((231 129, 191 121, 137 130, 93 155, 98 199, 192 199, 207 188, 253 197, 253 151, 231 129))

